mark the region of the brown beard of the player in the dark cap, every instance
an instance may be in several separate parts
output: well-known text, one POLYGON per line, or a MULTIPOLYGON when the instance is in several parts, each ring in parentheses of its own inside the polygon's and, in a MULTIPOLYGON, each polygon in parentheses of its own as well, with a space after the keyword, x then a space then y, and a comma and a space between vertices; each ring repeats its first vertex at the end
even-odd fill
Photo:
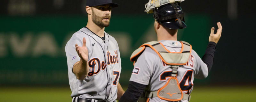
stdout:
POLYGON ((100 26, 100 27, 107 27, 107 26, 109 26, 110 18, 111 18, 111 16, 109 16, 109 15, 106 15, 104 17, 99 17, 92 10, 92 22, 95 23, 96 25, 100 26), (104 18, 108 18, 108 21, 102 22, 102 20, 104 18))

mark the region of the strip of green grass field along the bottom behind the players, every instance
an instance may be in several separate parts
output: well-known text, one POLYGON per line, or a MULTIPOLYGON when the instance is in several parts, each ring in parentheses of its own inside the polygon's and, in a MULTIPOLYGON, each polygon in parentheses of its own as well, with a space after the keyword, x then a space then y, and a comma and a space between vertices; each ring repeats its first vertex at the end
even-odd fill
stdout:
MULTIPOLYGON (((255 102, 255 93, 256 86, 197 86, 190 102, 255 102)), ((71 102, 70 94, 69 87, 1 87, 0 102, 71 102)))

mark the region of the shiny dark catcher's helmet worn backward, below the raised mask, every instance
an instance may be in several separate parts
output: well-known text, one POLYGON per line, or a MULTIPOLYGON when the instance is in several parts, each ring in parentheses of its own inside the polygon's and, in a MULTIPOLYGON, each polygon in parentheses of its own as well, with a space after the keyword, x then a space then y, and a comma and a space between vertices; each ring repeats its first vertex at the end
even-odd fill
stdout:
POLYGON ((168 29, 186 28, 184 13, 179 3, 169 3, 154 8, 154 18, 168 29))

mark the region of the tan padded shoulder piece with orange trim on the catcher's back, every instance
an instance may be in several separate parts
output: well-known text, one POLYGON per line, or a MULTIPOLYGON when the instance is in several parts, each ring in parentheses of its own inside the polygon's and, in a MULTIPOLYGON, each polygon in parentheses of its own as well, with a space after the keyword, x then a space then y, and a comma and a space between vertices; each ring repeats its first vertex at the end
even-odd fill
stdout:
POLYGON ((192 46, 188 42, 180 42, 182 45, 180 52, 170 52, 161 42, 151 41, 145 43, 132 53, 130 60, 132 62, 136 61, 140 54, 145 50, 145 47, 150 47, 166 64, 185 65, 188 62, 189 56, 191 54, 192 46))

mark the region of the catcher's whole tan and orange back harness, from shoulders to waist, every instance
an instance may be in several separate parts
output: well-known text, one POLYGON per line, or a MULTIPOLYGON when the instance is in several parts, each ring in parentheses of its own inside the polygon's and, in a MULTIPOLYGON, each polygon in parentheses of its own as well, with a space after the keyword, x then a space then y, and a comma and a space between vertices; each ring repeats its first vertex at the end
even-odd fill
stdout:
POLYGON ((146 102, 149 100, 148 98, 153 97, 158 97, 167 101, 180 101, 181 99, 190 101, 190 95, 183 94, 182 90, 180 89, 176 74, 178 67, 180 65, 185 65, 188 62, 192 47, 185 41, 180 41, 180 43, 180 52, 170 52, 161 42, 151 41, 141 45, 132 53, 130 60, 135 63, 145 48, 150 47, 156 52, 164 63, 171 65, 170 68, 172 69, 172 77, 168 79, 167 83, 162 88, 160 88, 158 91, 144 91, 138 102, 146 102))

